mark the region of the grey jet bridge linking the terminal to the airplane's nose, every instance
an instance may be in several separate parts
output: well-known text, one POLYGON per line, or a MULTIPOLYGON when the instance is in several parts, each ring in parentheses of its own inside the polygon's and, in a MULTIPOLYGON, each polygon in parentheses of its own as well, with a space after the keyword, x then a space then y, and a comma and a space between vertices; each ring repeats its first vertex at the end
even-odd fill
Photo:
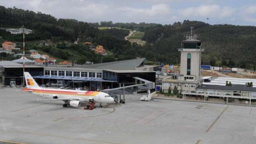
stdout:
POLYGON ((115 99, 115 102, 120 100, 120 103, 125 103, 125 94, 137 93, 141 91, 147 91, 147 96, 150 95, 150 90, 155 89, 155 83, 139 77, 133 77, 135 79, 134 85, 125 86, 125 83, 120 84, 119 88, 105 89, 101 92, 108 93, 115 99), (123 95, 123 99, 121 98, 123 95))

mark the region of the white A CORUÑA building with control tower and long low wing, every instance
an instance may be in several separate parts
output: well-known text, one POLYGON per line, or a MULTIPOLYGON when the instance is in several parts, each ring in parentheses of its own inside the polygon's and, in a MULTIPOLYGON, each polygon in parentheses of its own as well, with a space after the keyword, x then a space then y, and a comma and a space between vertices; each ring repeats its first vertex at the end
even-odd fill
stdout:
POLYGON ((201 54, 204 49, 201 48, 202 42, 197 40, 196 35, 186 36, 182 41, 180 73, 173 74, 162 80, 163 93, 173 93, 174 89, 178 90, 183 98, 186 96, 204 97, 205 101, 211 98, 222 98, 226 102, 236 102, 241 99, 245 103, 256 103, 256 87, 249 86, 246 83, 256 83, 256 79, 239 79, 239 78, 217 78, 204 82, 200 74, 201 54), (226 85, 232 83, 230 85, 226 85), (170 92, 171 91, 171 92, 170 92))

